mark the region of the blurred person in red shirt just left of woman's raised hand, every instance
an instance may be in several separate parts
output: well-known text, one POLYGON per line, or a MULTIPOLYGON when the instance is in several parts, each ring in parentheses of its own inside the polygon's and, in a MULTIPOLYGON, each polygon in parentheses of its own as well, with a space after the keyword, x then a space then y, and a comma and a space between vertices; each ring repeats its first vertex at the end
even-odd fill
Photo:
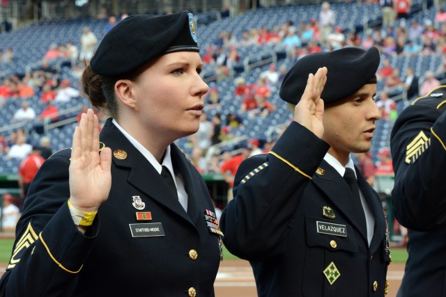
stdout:
POLYGON ((38 147, 33 146, 33 149, 29 153, 28 156, 23 159, 19 166, 19 180, 18 184, 20 187, 20 206, 19 209, 22 211, 23 209, 23 200, 26 197, 26 193, 28 193, 29 185, 39 170, 40 166, 42 166, 43 159, 40 156, 40 150, 38 147))

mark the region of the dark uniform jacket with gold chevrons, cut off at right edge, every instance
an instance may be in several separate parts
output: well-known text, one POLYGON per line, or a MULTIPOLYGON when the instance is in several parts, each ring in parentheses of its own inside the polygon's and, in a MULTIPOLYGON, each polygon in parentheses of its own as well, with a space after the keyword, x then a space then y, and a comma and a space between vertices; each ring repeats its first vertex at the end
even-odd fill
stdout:
POLYGON ((391 134, 394 212, 408 227, 402 296, 446 296, 446 86, 416 99, 391 134))

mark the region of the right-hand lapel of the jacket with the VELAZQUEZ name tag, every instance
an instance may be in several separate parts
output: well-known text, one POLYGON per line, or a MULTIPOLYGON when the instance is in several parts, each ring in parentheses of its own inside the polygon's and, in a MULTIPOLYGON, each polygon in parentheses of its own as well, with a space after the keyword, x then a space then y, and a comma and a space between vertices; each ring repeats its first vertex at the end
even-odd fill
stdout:
POLYGON ((357 182, 360 185, 360 189, 367 199, 371 215, 375 219, 374 236, 371 239, 370 250, 374 252, 376 248, 384 239, 385 234, 385 217, 383 212, 383 205, 381 204, 376 192, 368 185, 367 180, 364 178, 360 170, 356 168, 357 182))

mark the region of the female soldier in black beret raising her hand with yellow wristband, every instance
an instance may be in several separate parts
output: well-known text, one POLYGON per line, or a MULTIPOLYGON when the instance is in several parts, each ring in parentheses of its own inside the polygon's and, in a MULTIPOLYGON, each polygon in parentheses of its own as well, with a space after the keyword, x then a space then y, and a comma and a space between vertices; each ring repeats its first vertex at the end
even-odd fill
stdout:
POLYGON ((201 68, 190 13, 135 15, 105 35, 82 82, 112 118, 99 135, 84 113, 72 149, 38 172, 1 296, 214 296, 221 232, 173 143, 199 128, 201 68))

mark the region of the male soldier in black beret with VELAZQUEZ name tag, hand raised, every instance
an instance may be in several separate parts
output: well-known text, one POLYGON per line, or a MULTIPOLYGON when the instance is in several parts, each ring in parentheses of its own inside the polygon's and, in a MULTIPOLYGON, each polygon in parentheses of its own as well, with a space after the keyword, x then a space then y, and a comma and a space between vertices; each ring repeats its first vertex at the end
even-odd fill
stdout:
POLYGON ((309 54, 286 74, 280 97, 294 121, 269 154, 241 163, 221 219, 224 243, 251 263, 259 296, 386 293, 383 208, 350 156, 370 149, 380 118, 379 61, 376 47, 346 48, 309 54))

